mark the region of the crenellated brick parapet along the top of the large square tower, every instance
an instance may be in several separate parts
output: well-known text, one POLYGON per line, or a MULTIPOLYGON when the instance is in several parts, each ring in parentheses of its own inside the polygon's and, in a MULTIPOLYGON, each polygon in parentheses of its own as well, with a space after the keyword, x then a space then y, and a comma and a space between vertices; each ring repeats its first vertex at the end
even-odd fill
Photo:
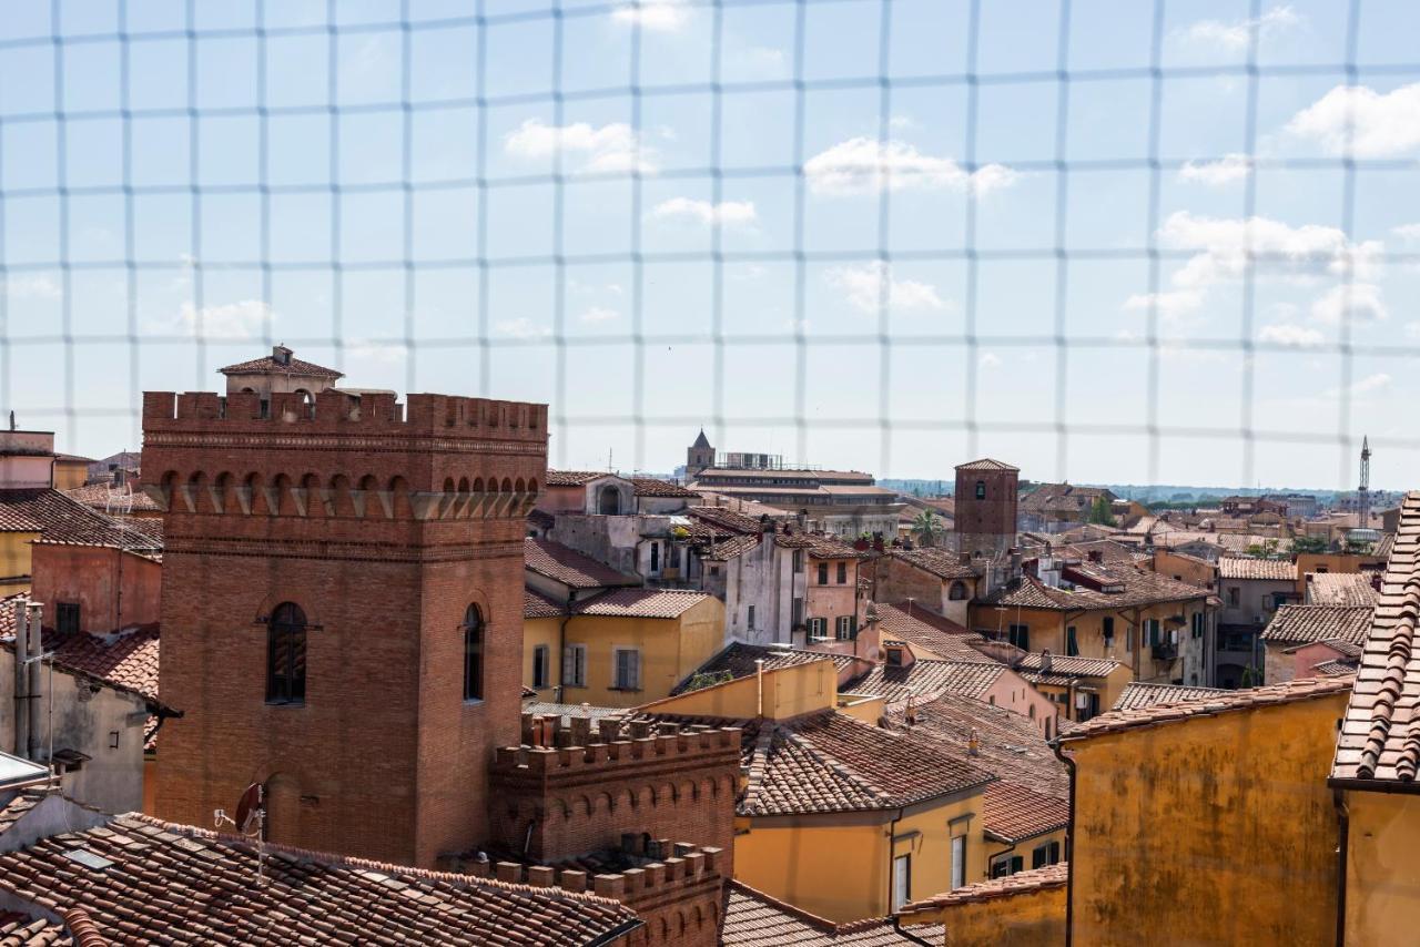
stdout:
POLYGON ((327 389, 304 395, 275 392, 266 412, 254 392, 143 392, 145 432, 291 434, 349 433, 427 437, 481 437, 547 442, 547 405, 456 395, 409 395, 408 407, 392 392, 355 395, 327 389), (295 429, 287 427, 295 425, 295 429))

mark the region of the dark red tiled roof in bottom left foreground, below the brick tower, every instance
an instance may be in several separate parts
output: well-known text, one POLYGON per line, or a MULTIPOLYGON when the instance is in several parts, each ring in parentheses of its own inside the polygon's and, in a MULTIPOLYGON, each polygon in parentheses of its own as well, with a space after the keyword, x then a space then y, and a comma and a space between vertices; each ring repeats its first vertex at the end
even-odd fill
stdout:
POLYGON ((589 944, 636 924, 609 899, 398 867, 128 814, 0 853, 14 896, 81 907, 115 943, 589 944), (112 862, 89 867, 82 849, 112 862))

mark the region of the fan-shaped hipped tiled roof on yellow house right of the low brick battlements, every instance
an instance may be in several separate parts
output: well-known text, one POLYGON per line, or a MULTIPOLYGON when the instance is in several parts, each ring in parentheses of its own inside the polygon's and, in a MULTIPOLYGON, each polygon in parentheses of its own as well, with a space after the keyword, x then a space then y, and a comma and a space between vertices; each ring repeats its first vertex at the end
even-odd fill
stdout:
POLYGON ((832 710, 767 721, 747 748, 738 809, 751 816, 895 809, 993 778, 933 740, 832 710))

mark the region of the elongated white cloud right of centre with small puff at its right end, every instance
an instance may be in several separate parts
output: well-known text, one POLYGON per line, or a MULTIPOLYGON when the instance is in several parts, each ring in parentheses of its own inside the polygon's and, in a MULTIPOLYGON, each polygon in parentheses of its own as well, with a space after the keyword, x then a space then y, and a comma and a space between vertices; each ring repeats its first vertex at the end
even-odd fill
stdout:
POLYGON ((950 158, 923 155, 900 141, 851 138, 804 162, 809 187, 819 195, 869 195, 892 190, 973 189, 980 195, 1008 187, 1018 175, 1005 165, 967 173, 950 158))

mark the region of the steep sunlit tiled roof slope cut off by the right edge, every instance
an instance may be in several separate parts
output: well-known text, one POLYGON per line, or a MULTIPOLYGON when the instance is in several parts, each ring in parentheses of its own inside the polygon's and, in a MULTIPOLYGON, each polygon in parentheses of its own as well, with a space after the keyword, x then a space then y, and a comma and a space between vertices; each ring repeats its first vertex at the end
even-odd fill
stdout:
MULTIPOLYGON (((1333 779, 1413 784, 1420 770, 1420 493, 1400 504, 1396 542, 1366 629, 1333 779)), ((1325 679, 1333 680, 1333 679, 1325 679)), ((1345 679, 1342 679, 1345 680, 1345 679)))

